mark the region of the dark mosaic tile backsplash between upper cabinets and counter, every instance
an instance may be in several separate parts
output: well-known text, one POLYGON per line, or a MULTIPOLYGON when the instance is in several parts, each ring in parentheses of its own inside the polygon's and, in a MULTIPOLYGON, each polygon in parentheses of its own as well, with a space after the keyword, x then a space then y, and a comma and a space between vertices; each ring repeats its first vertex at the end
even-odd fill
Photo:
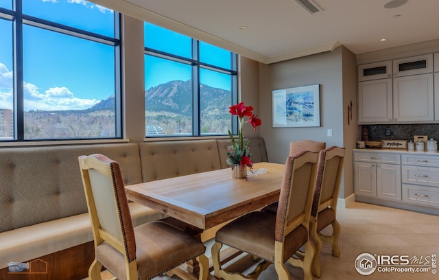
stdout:
POLYGON ((439 124, 380 124, 363 128, 368 129, 369 140, 413 141, 413 135, 427 135, 428 139, 439 140, 439 124), (390 136, 385 136, 386 129, 390 129, 390 136))

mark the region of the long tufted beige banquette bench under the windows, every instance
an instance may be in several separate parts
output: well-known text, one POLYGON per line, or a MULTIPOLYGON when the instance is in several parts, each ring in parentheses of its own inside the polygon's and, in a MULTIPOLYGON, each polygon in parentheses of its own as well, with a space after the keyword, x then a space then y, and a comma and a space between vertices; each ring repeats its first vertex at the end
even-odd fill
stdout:
MULTIPOLYGON (((268 161, 263 139, 250 143, 252 161, 268 161)), ((226 168, 228 145, 228 139, 202 139, 0 148, 0 279, 37 279, 41 263, 42 279, 86 277, 93 235, 78 156, 105 154, 132 185, 226 168), (9 272, 11 261, 30 261, 28 274, 9 272), (34 261, 40 264, 32 270, 34 261)), ((165 218, 134 202, 130 210, 134 226, 165 218)))

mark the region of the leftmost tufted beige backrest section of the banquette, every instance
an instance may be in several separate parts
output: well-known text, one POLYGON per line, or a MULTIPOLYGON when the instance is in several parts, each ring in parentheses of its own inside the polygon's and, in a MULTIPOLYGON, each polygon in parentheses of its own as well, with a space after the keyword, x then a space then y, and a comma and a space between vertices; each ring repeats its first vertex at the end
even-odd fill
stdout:
POLYGON ((0 233, 87 212, 78 156, 105 154, 141 183, 137 143, 0 148, 0 233))

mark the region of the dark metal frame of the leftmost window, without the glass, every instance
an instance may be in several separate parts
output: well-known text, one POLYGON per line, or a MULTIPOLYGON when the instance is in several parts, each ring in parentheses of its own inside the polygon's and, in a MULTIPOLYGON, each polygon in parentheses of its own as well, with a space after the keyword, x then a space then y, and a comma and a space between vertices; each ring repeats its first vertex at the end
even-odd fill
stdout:
POLYGON ((123 139, 123 98, 122 98, 122 50, 121 50, 121 14, 113 11, 115 38, 81 30, 69 25, 63 25, 45 19, 23 14, 22 0, 12 0, 12 10, 0 8, 0 19, 12 21, 12 61, 13 61, 13 116, 14 135, 12 139, 1 139, 1 143, 8 142, 44 142, 44 141, 94 141, 108 139, 123 139), (42 28, 49 32, 57 32, 67 36, 74 36, 95 43, 103 43, 115 48, 115 137, 65 137, 65 138, 38 138, 25 139, 24 122, 24 78, 23 78, 23 25, 42 28))

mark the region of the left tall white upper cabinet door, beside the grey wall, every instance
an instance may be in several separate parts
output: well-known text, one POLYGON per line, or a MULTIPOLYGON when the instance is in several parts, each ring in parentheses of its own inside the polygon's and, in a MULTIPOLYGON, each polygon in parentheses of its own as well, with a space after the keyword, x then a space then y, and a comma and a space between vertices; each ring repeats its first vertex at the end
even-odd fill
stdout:
POLYGON ((371 124, 392 121, 392 100, 392 79, 359 82, 358 123, 371 124))

